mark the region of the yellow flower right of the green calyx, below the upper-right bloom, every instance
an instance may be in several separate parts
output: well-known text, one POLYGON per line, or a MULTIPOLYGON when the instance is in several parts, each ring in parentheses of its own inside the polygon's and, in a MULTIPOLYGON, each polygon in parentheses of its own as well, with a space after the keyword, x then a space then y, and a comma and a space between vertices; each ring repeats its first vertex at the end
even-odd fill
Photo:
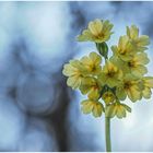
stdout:
POLYGON ((120 36, 118 46, 111 46, 111 50, 114 56, 119 57, 123 61, 132 59, 133 54, 137 52, 128 36, 120 36))

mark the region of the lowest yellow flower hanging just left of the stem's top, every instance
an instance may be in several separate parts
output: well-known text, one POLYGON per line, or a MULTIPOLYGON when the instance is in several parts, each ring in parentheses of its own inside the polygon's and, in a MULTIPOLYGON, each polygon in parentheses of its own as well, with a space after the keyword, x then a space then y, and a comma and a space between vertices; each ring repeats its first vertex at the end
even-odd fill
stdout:
POLYGON ((104 113, 104 106, 102 103, 93 99, 85 99, 81 103, 81 110, 83 114, 93 114, 94 117, 101 117, 104 113))

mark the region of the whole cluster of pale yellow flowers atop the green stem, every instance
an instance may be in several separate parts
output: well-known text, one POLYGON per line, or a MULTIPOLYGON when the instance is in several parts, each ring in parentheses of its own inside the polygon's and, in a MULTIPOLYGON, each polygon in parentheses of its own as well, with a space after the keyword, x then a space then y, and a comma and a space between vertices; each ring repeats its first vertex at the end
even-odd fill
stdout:
POLYGON ((68 76, 67 84, 79 89, 86 95, 82 105, 84 114, 101 117, 123 118, 131 108, 123 104, 150 98, 153 76, 146 76, 149 58, 145 52, 150 44, 149 36, 140 35, 136 25, 127 27, 127 34, 120 36, 118 45, 111 46, 113 56, 108 58, 106 42, 110 38, 113 24, 109 21, 94 20, 78 36, 79 42, 93 42, 97 52, 91 52, 80 60, 70 60, 63 67, 68 76), (102 64, 102 60, 105 64, 102 64))

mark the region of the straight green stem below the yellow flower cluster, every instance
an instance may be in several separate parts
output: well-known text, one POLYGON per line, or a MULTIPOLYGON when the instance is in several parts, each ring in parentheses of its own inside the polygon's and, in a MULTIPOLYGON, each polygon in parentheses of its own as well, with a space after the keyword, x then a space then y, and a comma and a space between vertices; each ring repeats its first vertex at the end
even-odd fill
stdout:
POLYGON ((106 141, 106 152, 111 152, 110 118, 109 117, 105 117, 105 141, 106 141))

